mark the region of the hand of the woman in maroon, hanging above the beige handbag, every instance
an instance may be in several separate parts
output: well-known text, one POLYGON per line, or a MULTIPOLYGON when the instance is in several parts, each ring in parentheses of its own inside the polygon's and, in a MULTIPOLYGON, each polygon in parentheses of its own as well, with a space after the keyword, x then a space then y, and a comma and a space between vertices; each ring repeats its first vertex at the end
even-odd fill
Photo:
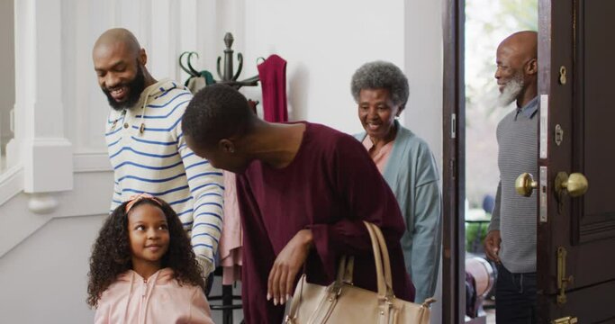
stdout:
POLYGON ((312 247, 312 229, 302 229, 276 257, 267 280, 267 301, 284 304, 293 294, 294 278, 299 273, 312 247))

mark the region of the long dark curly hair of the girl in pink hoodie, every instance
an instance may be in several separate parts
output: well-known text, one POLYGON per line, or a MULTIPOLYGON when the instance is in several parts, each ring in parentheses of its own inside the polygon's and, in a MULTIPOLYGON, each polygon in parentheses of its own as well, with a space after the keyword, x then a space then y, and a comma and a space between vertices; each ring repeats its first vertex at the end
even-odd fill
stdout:
MULTIPOLYGON (((142 199, 131 207, 149 203, 160 208, 167 216, 169 243, 167 254, 162 257, 162 267, 170 267, 180 284, 190 284, 204 289, 203 270, 196 262, 190 239, 185 234, 182 223, 171 206, 160 199, 142 199)), ((89 283, 87 284, 87 304, 97 307, 104 291, 113 284, 118 275, 132 268, 131 247, 128 236, 128 215, 123 202, 104 221, 103 228, 92 247, 90 257, 89 283)))

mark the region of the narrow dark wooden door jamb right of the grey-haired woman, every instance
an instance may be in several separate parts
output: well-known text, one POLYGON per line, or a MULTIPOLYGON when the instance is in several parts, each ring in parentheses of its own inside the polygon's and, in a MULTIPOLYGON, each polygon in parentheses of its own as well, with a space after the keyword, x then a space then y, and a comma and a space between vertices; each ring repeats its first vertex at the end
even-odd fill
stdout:
POLYGON ((465 0, 443 1, 443 235, 442 323, 466 316, 466 92, 464 77, 465 0))

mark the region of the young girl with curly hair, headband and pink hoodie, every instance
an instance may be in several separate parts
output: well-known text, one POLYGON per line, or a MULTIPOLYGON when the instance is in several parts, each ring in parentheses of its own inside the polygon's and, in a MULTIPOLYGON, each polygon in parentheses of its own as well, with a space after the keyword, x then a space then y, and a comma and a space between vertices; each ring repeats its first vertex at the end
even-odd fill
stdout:
POLYGON ((203 278, 175 211, 147 193, 104 222, 90 258, 95 323, 213 324, 203 278))

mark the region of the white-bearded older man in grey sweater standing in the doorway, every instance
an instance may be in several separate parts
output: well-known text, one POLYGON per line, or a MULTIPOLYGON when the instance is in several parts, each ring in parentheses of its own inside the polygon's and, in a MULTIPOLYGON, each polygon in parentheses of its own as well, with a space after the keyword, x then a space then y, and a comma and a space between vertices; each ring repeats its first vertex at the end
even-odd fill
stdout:
POLYGON ((537 48, 537 33, 520 31, 502 40, 496 54, 500 103, 517 103, 517 109, 507 114, 497 128, 500 184, 484 239, 487 257, 498 265, 498 324, 537 321, 536 199, 520 196, 514 187, 520 174, 538 175, 537 48))

